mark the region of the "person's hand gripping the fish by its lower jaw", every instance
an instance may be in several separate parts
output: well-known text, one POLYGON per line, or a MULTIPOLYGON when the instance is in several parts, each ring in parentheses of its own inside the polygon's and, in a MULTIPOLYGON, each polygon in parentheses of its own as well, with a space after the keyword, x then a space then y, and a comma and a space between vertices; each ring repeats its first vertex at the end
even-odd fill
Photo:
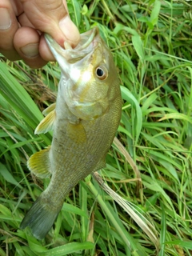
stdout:
POLYGON ((32 68, 54 61, 42 32, 61 46, 79 41, 66 0, 0 0, 0 53, 11 61, 23 59, 32 68))

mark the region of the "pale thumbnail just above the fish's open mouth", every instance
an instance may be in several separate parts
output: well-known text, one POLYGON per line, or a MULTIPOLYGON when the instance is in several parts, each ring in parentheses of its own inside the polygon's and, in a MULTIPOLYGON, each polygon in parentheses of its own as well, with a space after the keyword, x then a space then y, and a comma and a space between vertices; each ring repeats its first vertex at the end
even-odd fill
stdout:
POLYGON ((75 26, 74 22, 71 21, 69 15, 66 15, 66 17, 59 22, 59 26, 62 29, 63 34, 65 34, 66 39, 75 45, 78 44, 80 34, 77 26, 75 26))

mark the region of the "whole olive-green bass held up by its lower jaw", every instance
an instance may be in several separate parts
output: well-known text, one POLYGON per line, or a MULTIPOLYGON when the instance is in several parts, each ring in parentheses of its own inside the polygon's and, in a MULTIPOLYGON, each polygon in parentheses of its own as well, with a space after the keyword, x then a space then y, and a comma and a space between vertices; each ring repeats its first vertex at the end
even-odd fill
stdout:
POLYGON ((29 226, 39 240, 50 231, 70 190, 106 166, 121 118, 120 81, 110 49, 98 27, 80 37, 72 49, 68 42, 64 48, 45 34, 61 78, 56 103, 42 112, 45 118, 34 134, 53 130, 53 138, 51 146, 33 154, 27 166, 40 178, 50 176, 50 183, 20 225, 21 230, 29 226))

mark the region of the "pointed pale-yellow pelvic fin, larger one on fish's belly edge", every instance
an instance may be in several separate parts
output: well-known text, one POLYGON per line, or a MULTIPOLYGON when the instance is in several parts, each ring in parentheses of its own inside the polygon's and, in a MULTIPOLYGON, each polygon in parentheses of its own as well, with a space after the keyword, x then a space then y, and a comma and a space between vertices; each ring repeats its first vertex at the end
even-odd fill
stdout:
POLYGON ((34 130, 34 134, 46 134, 49 130, 54 129, 54 120, 56 118, 56 111, 52 110, 45 118, 39 123, 34 130))

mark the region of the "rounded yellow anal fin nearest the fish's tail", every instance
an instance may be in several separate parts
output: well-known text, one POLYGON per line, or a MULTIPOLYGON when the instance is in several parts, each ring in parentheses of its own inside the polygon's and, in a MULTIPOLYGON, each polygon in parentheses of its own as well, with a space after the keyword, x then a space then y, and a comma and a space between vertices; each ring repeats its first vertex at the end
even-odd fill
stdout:
POLYGON ((45 150, 41 150, 34 153, 27 161, 27 167, 30 171, 40 178, 46 178, 50 176, 50 158, 49 158, 50 146, 45 150))

